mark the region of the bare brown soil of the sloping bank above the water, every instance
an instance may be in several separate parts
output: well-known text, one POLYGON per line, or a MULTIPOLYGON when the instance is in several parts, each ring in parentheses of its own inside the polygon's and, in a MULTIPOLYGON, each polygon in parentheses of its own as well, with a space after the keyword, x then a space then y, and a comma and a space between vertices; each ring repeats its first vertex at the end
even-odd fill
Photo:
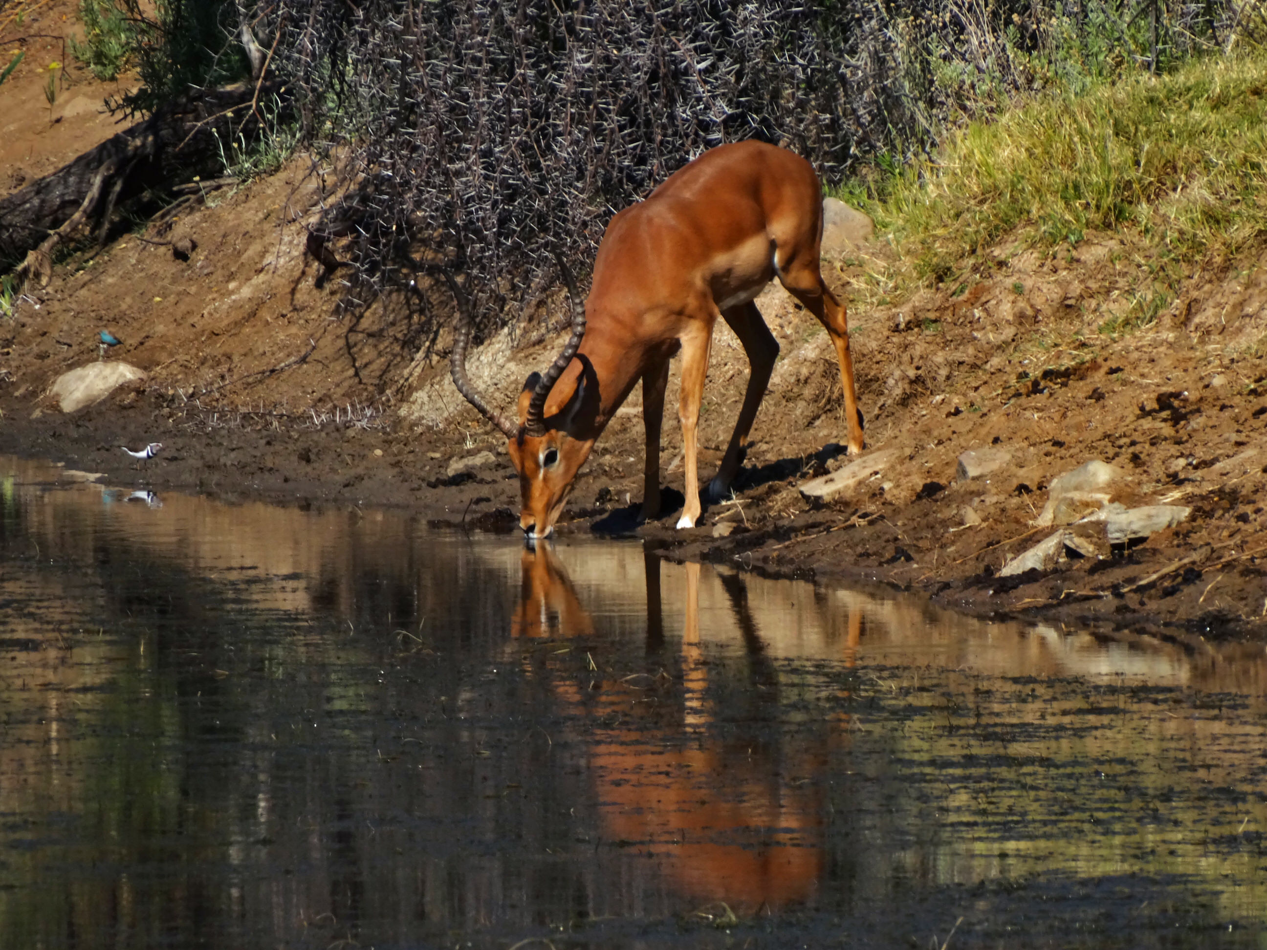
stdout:
MULTIPOLYGON (((47 114, 23 118, 14 108, 32 98, 33 82, 19 72, 0 87, 0 115, 10 119, 0 185, 51 171, 114 130, 92 113, 95 124, 63 143, 47 114)), ((91 95, 105 91, 98 84, 91 95)), ((166 229, 138 229, 62 262, 47 289, 0 320, 0 451, 156 490, 409 505, 465 528, 512 531, 517 481, 502 438, 447 381, 446 334, 404 301, 361 317, 341 310, 348 289, 338 271, 317 286, 322 267, 305 256, 304 225, 328 196, 321 172, 295 160, 215 193, 166 229), (188 260, 172 252, 180 238, 196 242, 188 260), (148 377, 63 415, 43 394, 99 357, 101 329, 123 341, 109 358, 148 377), (163 450, 141 470, 119 450, 151 441, 163 450), (495 464, 449 475, 455 459, 485 450, 495 464)), ((840 385, 826 334, 772 288, 758 305, 782 356, 735 498, 708 508, 701 527, 673 529, 682 474, 670 419, 665 517, 635 523, 635 393, 585 466, 561 529, 636 532, 670 557, 879 580, 977 614, 1129 627, 1196 650, 1211 638, 1267 637, 1264 261, 1190 269, 1177 295, 1154 299, 1153 262, 1131 237, 1092 234, 1055 252, 1005 243, 914 298, 873 300, 867 275, 892 260, 877 243, 825 261, 829 282, 854 301, 868 450, 897 451, 881 475, 826 505, 798 491, 845 462, 840 385), (959 455, 986 446, 1010 450, 1009 465, 957 481, 959 455), (1120 500, 1188 505, 1190 517, 1130 550, 1000 579, 1009 557, 1050 533, 1033 521, 1052 479, 1091 459, 1128 472, 1120 500), (735 527, 721 536, 718 522, 735 527), (1175 570, 1128 590, 1168 565, 1175 570)), ((432 299, 446 305, 438 291, 432 299)), ((560 345, 549 327, 565 312, 560 296, 542 301, 473 355, 473 379, 509 405, 560 345)), ((739 343, 718 328, 704 478, 745 381, 739 343)), ((670 407, 674 388, 675 379, 670 407)))

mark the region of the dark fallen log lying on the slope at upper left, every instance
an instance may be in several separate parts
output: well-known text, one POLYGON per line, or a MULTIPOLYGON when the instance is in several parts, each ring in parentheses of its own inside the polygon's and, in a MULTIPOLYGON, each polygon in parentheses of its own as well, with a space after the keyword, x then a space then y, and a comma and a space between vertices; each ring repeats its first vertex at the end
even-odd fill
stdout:
POLYGON ((242 84, 185 96, 0 199, 0 271, 16 265, 20 280, 44 285, 57 248, 85 232, 104 242, 124 203, 222 172, 217 136, 219 142, 252 141, 258 132, 252 105, 261 92, 276 95, 283 87, 242 84))

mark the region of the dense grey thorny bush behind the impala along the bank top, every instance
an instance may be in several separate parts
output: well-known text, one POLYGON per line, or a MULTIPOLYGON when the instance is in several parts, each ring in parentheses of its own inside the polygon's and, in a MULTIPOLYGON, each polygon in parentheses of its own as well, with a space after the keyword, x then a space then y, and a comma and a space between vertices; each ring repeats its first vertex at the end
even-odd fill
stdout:
MULTIPOLYGON (((256 75, 267 51, 266 68, 298 98, 307 142, 342 146, 356 182, 318 228, 352 237, 345 304, 364 313, 383 291, 413 286, 421 313, 411 323, 435 342, 423 272, 464 272, 492 304, 478 308, 488 329, 540 300, 557 255, 589 261, 616 210, 708 147, 782 143, 827 184, 860 161, 896 170, 959 117, 1017 92, 1129 66, 1156 72, 1261 39, 1263 1, 158 6, 199 6, 199 22, 223 24, 226 51, 242 38, 256 75)), ((162 47, 141 52, 143 73, 162 47)), ((416 347, 419 336, 407 339, 416 347)))

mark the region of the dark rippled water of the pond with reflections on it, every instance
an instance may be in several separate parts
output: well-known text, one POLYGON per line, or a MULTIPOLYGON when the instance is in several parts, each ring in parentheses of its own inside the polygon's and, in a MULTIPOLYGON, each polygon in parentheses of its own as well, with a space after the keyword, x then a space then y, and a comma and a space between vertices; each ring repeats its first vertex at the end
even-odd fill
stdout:
POLYGON ((1264 660, 0 460, 0 946, 1262 946, 1264 660))

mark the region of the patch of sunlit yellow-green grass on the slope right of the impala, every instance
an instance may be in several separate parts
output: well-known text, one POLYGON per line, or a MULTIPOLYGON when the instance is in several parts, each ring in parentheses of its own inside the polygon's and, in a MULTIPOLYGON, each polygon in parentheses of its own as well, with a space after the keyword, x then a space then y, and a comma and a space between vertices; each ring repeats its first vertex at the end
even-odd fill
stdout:
POLYGON ((950 280, 1005 238, 1054 248, 1092 231, 1176 261, 1237 255, 1267 243, 1267 53, 1047 94, 839 194, 921 279, 950 280))

